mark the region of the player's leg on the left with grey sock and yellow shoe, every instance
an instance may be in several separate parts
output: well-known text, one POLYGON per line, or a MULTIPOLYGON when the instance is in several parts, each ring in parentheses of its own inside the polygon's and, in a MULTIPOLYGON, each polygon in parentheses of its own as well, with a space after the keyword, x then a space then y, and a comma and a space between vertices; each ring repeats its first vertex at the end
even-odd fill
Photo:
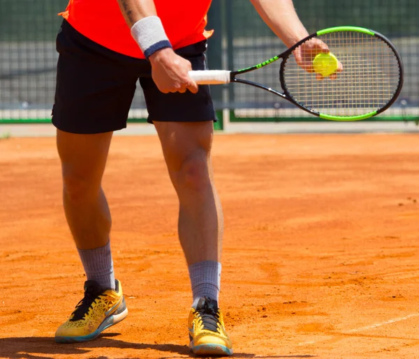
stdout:
POLYGON ((112 132, 78 135, 57 130, 64 211, 87 281, 84 298, 55 334, 59 343, 84 342, 128 314, 115 281, 110 252, 110 211, 101 187, 112 132))

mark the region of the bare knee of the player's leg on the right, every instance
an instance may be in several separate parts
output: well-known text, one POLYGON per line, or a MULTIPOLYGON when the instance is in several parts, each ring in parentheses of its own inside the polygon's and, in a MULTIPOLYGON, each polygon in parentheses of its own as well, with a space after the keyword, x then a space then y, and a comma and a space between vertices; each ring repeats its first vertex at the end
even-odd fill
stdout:
POLYGON ((210 185, 208 159, 206 154, 186 158, 177 173, 175 186, 201 192, 210 185))

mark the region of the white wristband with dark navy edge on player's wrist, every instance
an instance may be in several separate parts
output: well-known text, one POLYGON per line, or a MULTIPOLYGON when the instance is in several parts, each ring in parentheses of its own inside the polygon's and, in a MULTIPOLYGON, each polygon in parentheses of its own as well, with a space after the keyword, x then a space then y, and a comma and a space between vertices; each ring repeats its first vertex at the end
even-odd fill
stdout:
POLYGON ((159 49, 172 47, 158 16, 147 16, 135 22, 131 35, 147 59, 159 49))

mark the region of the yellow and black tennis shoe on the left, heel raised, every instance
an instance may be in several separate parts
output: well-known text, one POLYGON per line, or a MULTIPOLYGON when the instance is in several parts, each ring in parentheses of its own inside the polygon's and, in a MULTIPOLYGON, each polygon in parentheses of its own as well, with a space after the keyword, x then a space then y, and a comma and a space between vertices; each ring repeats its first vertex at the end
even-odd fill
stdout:
POLYGON ((103 330, 122 321, 128 314, 122 286, 103 290, 94 280, 84 283, 84 298, 75 307, 70 318, 57 329, 55 342, 75 343, 95 339, 103 330))

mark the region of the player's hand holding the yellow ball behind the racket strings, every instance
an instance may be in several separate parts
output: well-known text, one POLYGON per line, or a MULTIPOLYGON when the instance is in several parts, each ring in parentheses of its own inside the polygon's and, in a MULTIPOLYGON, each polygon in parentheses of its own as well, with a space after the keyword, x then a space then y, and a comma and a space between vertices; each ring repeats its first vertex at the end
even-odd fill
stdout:
MULTIPOLYGON (((295 61, 297 61, 298 66, 306 70, 307 72, 314 72, 313 60, 318 54, 328 54, 330 52, 328 45, 323 43, 322 40, 318 38, 312 38, 311 40, 306 41, 301 46, 297 47, 294 50, 295 61)), ((338 67, 334 74, 330 75, 330 79, 337 78, 337 72, 342 72, 343 66, 340 61, 338 61, 338 67)), ((317 74, 316 78, 319 80, 323 79, 323 75, 317 74)))

